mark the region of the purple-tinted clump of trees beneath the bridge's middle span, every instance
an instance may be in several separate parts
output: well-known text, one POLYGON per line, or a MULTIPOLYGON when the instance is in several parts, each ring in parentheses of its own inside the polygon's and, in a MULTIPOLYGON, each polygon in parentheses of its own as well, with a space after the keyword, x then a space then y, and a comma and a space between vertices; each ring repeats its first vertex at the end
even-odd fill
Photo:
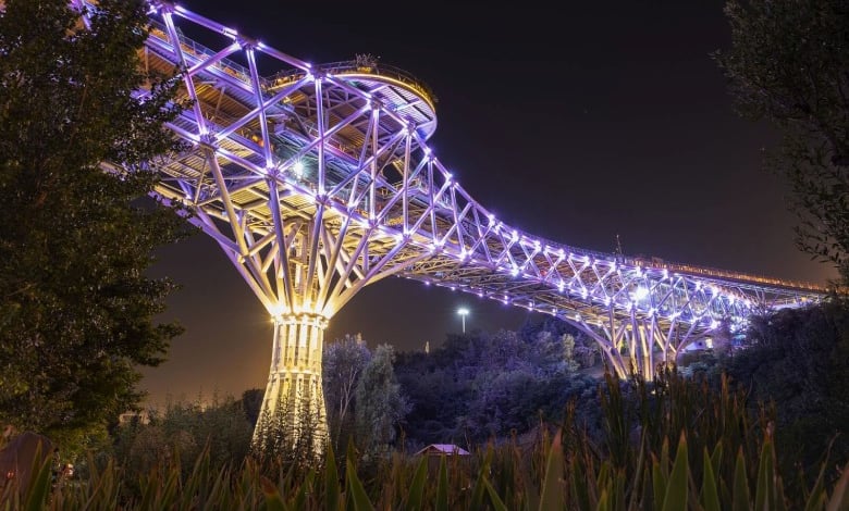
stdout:
POLYGON ((598 403, 598 382, 575 374, 559 321, 526 324, 519 334, 476 331, 448 336, 430 353, 399 353, 395 373, 413 410, 406 435, 413 447, 462 446, 521 435, 563 417, 581 397, 598 403))

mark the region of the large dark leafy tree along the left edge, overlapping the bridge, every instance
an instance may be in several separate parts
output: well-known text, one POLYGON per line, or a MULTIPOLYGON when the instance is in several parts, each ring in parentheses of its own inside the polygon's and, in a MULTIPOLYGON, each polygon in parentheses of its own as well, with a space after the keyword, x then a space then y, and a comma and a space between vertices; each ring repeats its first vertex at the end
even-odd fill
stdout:
POLYGON ((146 199, 182 107, 139 66, 146 2, 99 0, 88 27, 69 3, 0 11, 0 423, 60 438, 143 397, 137 367, 182 332, 155 322, 175 285, 145 272, 188 233, 146 199))

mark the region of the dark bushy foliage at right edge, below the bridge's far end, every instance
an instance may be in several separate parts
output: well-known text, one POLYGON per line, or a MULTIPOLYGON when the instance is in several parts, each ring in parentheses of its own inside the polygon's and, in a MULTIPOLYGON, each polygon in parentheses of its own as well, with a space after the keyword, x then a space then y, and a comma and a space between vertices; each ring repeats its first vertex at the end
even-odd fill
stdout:
POLYGON ((847 306, 835 300, 754 317, 749 346, 726 361, 733 381, 751 390, 751 402, 775 402, 778 452, 800 460, 809 476, 833 438, 833 460, 849 459, 847 306))

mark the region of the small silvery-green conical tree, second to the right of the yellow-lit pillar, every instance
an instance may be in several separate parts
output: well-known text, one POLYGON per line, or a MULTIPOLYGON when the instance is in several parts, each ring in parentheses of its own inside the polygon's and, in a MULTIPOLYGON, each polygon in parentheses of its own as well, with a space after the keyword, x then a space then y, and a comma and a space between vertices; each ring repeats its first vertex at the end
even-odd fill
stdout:
POLYGON ((374 349, 356 389, 357 446, 364 459, 374 460, 395 440, 395 427, 409 412, 392 367, 395 353, 390 345, 374 349))

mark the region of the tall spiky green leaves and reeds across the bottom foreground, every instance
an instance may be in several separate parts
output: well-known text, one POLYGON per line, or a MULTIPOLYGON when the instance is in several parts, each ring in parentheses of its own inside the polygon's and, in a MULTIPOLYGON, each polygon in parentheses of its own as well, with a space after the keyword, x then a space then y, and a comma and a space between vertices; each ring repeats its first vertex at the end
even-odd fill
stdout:
MULTIPOLYGON (((655 384, 600 387, 605 438, 573 426, 540 427, 531 445, 489 445, 469 457, 396 452, 366 472, 353 445, 344 464, 332 448, 322 468, 258 464, 214 468, 205 450, 190 472, 163 459, 127 495, 123 469, 109 461, 85 481, 49 484, 49 466, 23 496, 10 485, 7 509, 849 509, 849 464, 822 463, 813 485, 789 495, 776 463, 774 413, 747 412, 727 383, 716 392, 675 374, 655 384), (633 429, 630 414, 638 413, 633 429)), ((177 452, 179 454, 179 452, 177 452)), ((838 460, 846 463, 846 460, 838 460)), ((94 466, 96 463, 91 462, 94 466)), ((789 474, 801 477, 802 474, 789 474)), ((1 508, 1 506, 0 506, 1 508)))

